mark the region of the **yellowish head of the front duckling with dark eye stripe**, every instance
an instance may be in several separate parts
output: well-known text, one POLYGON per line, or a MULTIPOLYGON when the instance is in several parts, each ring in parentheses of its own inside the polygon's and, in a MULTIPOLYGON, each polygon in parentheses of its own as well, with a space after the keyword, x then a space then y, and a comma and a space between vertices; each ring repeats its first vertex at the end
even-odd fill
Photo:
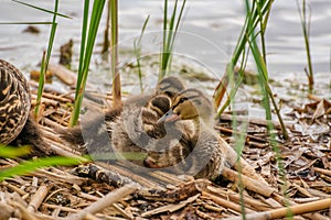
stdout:
POLYGON ((205 123, 211 123, 213 120, 213 106, 202 91, 190 88, 182 90, 173 98, 171 109, 159 122, 199 119, 205 123))

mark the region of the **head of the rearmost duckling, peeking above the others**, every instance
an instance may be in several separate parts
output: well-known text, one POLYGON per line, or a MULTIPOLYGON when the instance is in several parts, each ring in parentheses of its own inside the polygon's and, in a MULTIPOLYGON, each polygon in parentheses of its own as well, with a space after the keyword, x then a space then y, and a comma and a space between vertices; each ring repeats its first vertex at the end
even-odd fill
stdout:
POLYGON ((166 95, 171 99, 185 89, 183 82, 174 76, 163 78, 157 86, 157 95, 166 95))

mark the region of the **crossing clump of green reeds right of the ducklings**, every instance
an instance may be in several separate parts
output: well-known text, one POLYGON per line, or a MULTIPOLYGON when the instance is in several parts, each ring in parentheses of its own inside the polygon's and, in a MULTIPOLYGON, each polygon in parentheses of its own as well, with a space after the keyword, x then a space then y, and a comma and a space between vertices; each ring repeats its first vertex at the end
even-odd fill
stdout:
MULTIPOLYGON (((248 51, 252 53, 257 70, 258 70, 258 79, 259 85, 261 88, 261 95, 263 95, 263 105, 266 110, 266 119, 271 120, 271 110, 270 110, 270 100, 273 102, 274 109, 277 113, 278 120, 282 128, 282 134, 285 139, 288 138, 286 128, 284 125, 281 116, 279 113, 279 109, 277 107, 277 103, 275 101, 271 88, 268 82, 268 70, 267 70, 267 63, 266 63, 266 43, 265 43, 265 32, 267 28, 268 16, 271 11, 273 0, 265 0, 265 1, 253 1, 252 7, 248 1, 246 2, 246 20, 244 23, 244 26, 242 29, 242 33, 238 37, 238 42, 236 44, 236 47, 234 50, 232 59, 229 64, 227 65, 226 74, 221 81, 217 88, 215 89, 214 99, 216 107, 220 106, 221 100, 223 96, 225 95, 226 87, 228 85, 229 78, 235 78, 234 75, 234 67, 239 63, 241 61, 241 67, 239 67, 239 77, 237 77, 236 81, 234 82, 233 88, 228 92, 229 96, 225 103, 221 107, 218 114, 223 113, 224 110, 228 107, 229 102, 233 100, 237 89, 239 88, 239 85, 242 84, 244 79, 244 73, 245 64, 248 55, 248 51), (258 29, 259 28, 259 29, 258 29), (257 37, 260 36, 261 42, 261 51, 257 44, 257 37)), ((271 128, 269 127, 269 130, 271 128)))

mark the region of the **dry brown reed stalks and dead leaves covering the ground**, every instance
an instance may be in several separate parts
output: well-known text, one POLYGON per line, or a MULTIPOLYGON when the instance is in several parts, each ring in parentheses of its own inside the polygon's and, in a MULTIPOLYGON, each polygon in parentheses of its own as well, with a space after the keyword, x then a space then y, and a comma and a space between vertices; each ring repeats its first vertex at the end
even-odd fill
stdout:
MULTIPOLYGON (((72 95, 52 87, 43 95, 40 127, 52 152, 63 156, 81 154, 56 132, 68 124, 72 95)), ((242 219, 243 213, 247 219, 330 219, 330 108, 320 99, 293 109, 287 116, 293 122, 287 124, 289 140, 281 139, 275 122, 277 151, 266 122, 249 121, 243 157, 264 182, 233 168, 212 183, 161 172, 143 176, 120 164, 52 167, 0 183, 0 219, 242 219)), ((233 136, 241 131, 224 114, 215 129, 235 146, 233 136)), ((2 158, 1 169, 20 161, 2 158)))

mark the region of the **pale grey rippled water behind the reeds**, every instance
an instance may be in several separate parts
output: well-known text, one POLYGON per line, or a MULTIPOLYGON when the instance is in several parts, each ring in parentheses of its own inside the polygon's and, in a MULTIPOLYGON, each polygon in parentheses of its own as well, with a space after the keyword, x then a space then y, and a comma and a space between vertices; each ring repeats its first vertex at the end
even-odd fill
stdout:
MULTIPOLYGON (((25 2, 42 8, 53 9, 53 1, 26 0, 25 2)), ((311 56, 313 70, 323 79, 322 88, 330 84, 330 38, 331 1, 308 1, 311 11, 311 56)), ((52 62, 57 63, 60 45, 74 40, 74 59, 78 59, 82 23, 82 0, 61 1, 60 12, 71 15, 67 20, 58 18, 52 62)), ((150 14, 147 31, 160 31, 162 28, 161 0, 121 0, 119 1, 120 46, 132 51, 132 40, 140 33, 145 19, 150 14), (135 36, 135 37, 134 37, 135 36)), ((104 16, 105 18, 105 16, 104 16)), ((51 21, 52 15, 28 7, 1 0, 0 21, 51 21)), ((243 1, 189 0, 188 10, 175 45, 175 52, 186 59, 207 68, 215 78, 221 78, 225 64, 232 55, 244 22, 243 1)), ((96 52, 102 50, 105 19, 99 30, 96 52)), ((26 25, 0 25, 0 57, 14 63, 19 68, 35 68, 42 51, 46 48, 49 25, 39 25, 40 34, 23 33, 26 25)), ((271 77, 291 76, 306 80, 306 48, 300 26, 296 1, 277 0, 270 14, 267 38, 267 61, 271 77)), ((143 50, 147 54, 157 54, 160 50, 161 35, 146 34, 143 50)), ((121 53, 125 62, 134 61, 132 54, 121 53)), ((99 55, 94 57, 93 66, 99 63, 99 55)), ((75 64, 74 63, 74 68, 75 64)), ((253 62, 248 63, 254 68, 253 62)), ((327 91, 330 94, 330 90, 327 91)))

